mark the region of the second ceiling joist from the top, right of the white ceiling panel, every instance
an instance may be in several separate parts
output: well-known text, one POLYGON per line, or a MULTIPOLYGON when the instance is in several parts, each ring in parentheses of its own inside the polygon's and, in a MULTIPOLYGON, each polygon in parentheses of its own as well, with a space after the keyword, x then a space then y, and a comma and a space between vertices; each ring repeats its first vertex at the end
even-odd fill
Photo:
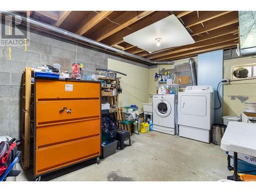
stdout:
POLYGON ((204 23, 204 27, 201 24, 196 25, 193 28, 191 27, 190 29, 193 31, 191 36, 195 36, 236 23, 238 23, 238 12, 232 11, 231 13, 228 13, 226 15, 222 15, 215 19, 208 20, 204 23))

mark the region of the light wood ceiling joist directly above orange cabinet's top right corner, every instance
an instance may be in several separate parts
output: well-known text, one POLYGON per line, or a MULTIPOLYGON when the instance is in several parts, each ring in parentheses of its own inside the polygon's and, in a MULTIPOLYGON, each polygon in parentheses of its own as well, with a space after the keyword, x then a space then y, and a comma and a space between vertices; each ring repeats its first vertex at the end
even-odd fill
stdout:
POLYGON ((112 12, 113 11, 100 11, 99 13, 94 11, 90 12, 86 18, 82 20, 80 26, 75 30, 75 33, 78 35, 83 35, 112 12))

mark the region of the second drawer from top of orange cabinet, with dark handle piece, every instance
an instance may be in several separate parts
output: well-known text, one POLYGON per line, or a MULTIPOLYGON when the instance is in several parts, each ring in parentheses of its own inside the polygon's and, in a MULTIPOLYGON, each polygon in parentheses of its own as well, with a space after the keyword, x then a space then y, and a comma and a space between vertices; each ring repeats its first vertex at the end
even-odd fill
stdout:
POLYGON ((36 103, 36 126, 44 126, 52 123, 85 120, 100 117, 100 100, 87 101, 56 101, 36 103), (67 113, 63 107, 71 109, 67 113))

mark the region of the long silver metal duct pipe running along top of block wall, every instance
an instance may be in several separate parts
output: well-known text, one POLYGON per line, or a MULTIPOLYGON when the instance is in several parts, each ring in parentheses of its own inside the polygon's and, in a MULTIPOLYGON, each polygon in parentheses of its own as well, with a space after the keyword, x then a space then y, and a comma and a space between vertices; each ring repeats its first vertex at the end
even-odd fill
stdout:
POLYGON ((173 61, 166 61, 166 62, 164 62, 164 61, 152 61, 150 59, 146 59, 146 58, 140 57, 138 55, 135 55, 135 54, 132 54, 132 53, 129 53, 129 52, 125 52, 125 51, 122 51, 120 49, 117 49, 117 48, 114 48, 114 47, 102 44, 101 42, 89 39, 87 37, 83 37, 81 35, 78 35, 78 34, 75 34, 75 33, 72 33, 72 32, 69 32, 69 31, 66 31, 66 30, 63 30, 63 29, 60 29, 58 27, 55 27, 55 26, 52 26, 52 25, 49 25, 49 24, 45 24, 45 23, 39 22, 38 20, 35 20, 33 18, 30 18, 30 17, 25 17, 23 15, 17 14, 17 13, 12 12, 12 11, 3 11, 1 13, 5 14, 5 15, 11 15, 13 17, 18 16, 18 17, 20 17, 20 19, 22 19, 24 22, 29 23, 30 25, 34 25, 34 26, 37 26, 39 28, 47 29, 47 30, 50 30, 50 31, 53 31, 53 32, 56 32, 56 33, 59 33, 59 34, 62 34, 62 35, 66 35, 66 36, 69 36, 71 38, 75 38, 77 40, 81 40, 83 42, 87 42, 88 44, 92 44, 94 46, 97 46, 97 47, 100 47, 100 48, 104 48, 104 49, 113 51, 115 53, 121 54, 121 55, 125 55, 125 56, 128 56, 128 57, 132 57, 132 58, 135 58, 135 59, 138 59, 138 60, 150 63, 151 65, 162 64, 162 63, 174 64, 173 61))

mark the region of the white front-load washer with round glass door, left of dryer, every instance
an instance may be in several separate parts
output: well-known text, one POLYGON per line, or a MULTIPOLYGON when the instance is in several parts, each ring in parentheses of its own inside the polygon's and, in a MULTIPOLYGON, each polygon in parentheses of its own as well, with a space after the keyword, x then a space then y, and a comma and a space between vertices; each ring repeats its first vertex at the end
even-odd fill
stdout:
POLYGON ((171 135, 176 134, 177 94, 154 94, 153 96, 153 130, 171 135))

